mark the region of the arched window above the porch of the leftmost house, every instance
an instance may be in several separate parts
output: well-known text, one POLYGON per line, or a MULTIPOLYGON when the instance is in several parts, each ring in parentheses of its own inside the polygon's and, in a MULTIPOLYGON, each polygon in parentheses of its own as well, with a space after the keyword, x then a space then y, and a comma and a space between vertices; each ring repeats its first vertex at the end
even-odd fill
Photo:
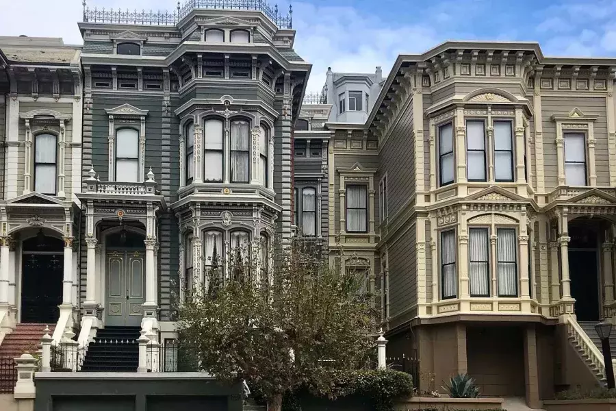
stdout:
POLYGON ((56 194, 57 140, 53 134, 38 134, 34 138, 34 191, 56 194))

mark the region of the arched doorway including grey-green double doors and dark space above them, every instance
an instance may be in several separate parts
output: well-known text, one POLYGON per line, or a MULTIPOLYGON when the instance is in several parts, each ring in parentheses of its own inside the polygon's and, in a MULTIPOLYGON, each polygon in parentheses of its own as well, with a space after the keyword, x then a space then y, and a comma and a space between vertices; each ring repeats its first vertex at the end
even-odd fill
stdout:
POLYGON ((138 326, 145 302, 144 236, 122 227, 105 236, 105 325, 138 326))

